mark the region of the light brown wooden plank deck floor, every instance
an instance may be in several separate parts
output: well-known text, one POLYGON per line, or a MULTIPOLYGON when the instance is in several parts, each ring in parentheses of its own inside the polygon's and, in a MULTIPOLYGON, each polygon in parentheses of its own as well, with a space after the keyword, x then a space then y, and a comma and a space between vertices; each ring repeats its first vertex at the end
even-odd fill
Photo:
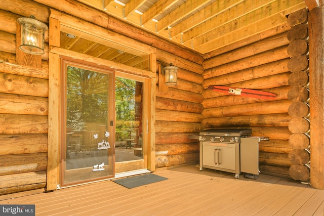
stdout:
POLYGON ((104 181, 0 204, 35 204, 36 215, 323 215, 324 190, 284 178, 235 179, 194 165, 155 174, 168 180, 133 189, 104 181))

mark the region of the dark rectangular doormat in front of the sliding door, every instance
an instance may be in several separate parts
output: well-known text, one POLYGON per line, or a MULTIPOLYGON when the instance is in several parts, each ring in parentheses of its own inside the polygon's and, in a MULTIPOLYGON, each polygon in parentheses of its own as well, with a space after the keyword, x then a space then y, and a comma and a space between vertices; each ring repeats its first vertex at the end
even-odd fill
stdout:
POLYGON ((148 185, 154 182, 160 182, 167 179, 168 178, 164 178, 149 173, 149 174, 143 174, 139 176, 127 177, 125 179, 117 179, 117 180, 113 180, 113 182, 121 186, 124 186, 126 188, 136 188, 142 185, 148 185))

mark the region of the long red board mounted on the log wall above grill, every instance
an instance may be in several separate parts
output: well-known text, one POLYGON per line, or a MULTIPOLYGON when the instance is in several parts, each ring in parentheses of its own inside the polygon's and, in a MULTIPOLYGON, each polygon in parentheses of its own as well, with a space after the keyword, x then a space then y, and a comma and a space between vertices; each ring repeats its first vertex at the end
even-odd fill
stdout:
POLYGON ((258 98, 258 99, 275 99, 277 96, 273 93, 263 92, 252 89, 239 89, 235 87, 224 87, 220 85, 210 85, 208 89, 215 92, 227 93, 230 95, 239 95, 243 97, 258 98))

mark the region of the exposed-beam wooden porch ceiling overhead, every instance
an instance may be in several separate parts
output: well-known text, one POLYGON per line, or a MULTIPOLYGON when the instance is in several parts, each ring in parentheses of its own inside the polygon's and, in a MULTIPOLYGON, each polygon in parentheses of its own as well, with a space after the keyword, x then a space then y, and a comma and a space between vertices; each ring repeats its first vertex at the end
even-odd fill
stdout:
POLYGON ((287 22, 304 0, 78 0, 200 54, 287 22))

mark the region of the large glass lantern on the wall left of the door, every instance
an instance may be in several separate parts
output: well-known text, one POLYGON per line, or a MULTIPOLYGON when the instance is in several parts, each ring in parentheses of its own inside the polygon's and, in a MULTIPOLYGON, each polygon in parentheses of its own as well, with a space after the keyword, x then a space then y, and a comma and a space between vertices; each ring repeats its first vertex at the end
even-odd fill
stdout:
POLYGON ((33 55, 44 54, 44 33, 48 30, 45 23, 39 22, 33 15, 30 18, 17 19, 21 26, 21 45, 19 49, 33 55))

